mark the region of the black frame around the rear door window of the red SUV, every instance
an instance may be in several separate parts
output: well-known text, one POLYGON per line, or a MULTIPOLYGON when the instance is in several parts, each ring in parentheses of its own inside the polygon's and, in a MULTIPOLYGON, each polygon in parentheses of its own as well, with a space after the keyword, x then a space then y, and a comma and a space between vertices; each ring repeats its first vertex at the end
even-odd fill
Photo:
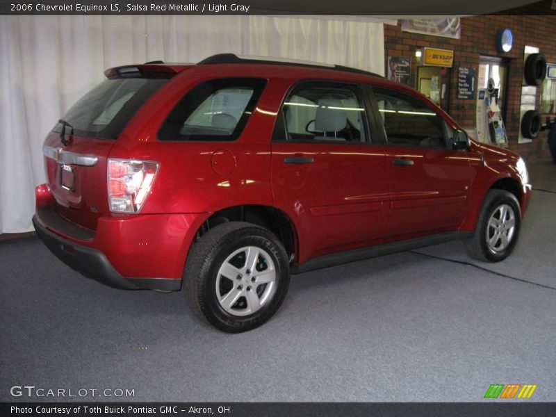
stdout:
POLYGON ((305 144, 309 145, 312 143, 315 144, 324 144, 324 145, 376 145, 373 144, 371 133, 373 130, 370 129, 370 112, 369 112, 368 101, 366 97, 366 92, 363 88, 361 83, 354 83, 350 81, 342 81, 342 80, 331 80, 331 79, 305 79, 301 81, 297 81, 293 83, 288 91, 284 95, 279 107, 279 111, 276 118, 275 128, 272 131, 272 142, 278 143, 296 143, 296 144, 305 144), (360 104, 363 106, 363 129, 365 133, 365 140, 362 142, 343 142, 343 141, 336 141, 336 140, 291 140, 288 139, 288 131, 286 129, 286 117, 284 116, 284 104, 286 100, 293 95, 296 90, 301 90, 304 88, 312 88, 313 86, 321 86, 321 85, 334 85, 336 88, 346 88, 347 90, 352 91, 357 99, 359 99, 360 104))

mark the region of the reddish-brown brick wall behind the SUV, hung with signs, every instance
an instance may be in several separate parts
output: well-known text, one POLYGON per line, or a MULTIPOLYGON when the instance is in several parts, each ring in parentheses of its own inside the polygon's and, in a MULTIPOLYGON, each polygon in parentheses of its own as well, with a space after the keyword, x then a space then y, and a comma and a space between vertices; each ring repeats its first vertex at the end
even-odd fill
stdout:
MULTIPOLYGON (((448 97, 441 105, 448 108, 452 117, 464 128, 475 128, 475 100, 457 99, 457 68, 473 67, 478 74, 480 56, 506 58, 508 79, 505 93, 506 111, 502 115, 509 148, 526 158, 548 158, 546 132, 530 144, 518 144, 519 116, 521 106, 521 81, 523 74, 523 48, 525 45, 539 47, 550 63, 556 63, 556 11, 550 9, 550 0, 525 6, 512 15, 487 15, 464 17, 461 19, 461 38, 449 39, 416 33, 402 32, 398 26, 384 25, 385 68, 388 56, 411 57, 411 83, 415 86, 417 74, 416 49, 433 47, 452 49, 454 65, 451 72, 441 79, 448 85, 448 97), (530 13, 530 14, 529 14, 530 13), (502 28, 510 28, 514 33, 514 46, 507 54, 496 51, 496 33, 502 28)), ((541 88, 537 88, 537 103, 540 104, 541 88)), ((540 108, 540 107, 539 107, 540 108)), ((543 116, 543 122, 547 116, 543 116)))

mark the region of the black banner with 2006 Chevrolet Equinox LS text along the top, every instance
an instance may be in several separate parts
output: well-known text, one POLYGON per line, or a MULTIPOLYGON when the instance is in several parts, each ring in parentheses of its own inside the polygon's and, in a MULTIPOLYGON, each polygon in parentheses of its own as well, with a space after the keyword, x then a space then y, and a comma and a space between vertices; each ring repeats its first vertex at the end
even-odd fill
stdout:
POLYGON ((528 0, 0 0, 0 15, 485 15, 528 0))

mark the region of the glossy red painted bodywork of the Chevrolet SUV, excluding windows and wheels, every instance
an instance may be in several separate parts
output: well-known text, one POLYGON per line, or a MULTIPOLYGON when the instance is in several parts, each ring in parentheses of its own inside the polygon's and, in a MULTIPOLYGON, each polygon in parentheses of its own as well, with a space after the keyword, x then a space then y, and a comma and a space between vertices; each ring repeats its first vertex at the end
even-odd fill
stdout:
MULTIPOLYGON (((472 142, 468 151, 416 149, 378 144, 272 142, 282 101, 295 83, 306 80, 379 85, 423 98, 418 92, 379 77, 314 67, 284 65, 146 65, 144 70, 175 72, 131 118, 117 140, 74 137, 70 145, 50 133, 45 145, 98 158, 76 167, 75 189, 60 188, 58 163, 45 158, 48 187, 37 190, 38 209, 55 201, 65 220, 92 231, 80 239, 43 227, 67 242, 98 250, 127 278, 179 280, 190 246, 212 213, 258 205, 285 213, 295 235, 295 263, 316 256, 423 236, 439 231, 473 231, 486 191, 500 179, 522 184, 518 156, 472 142), (268 84, 240 138, 234 142, 168 142, 158 130, 191 88, 211 79, 263 76, 268 84), (308 156, 311 165, 285 165, 288 156, 308 156), (160 169, 138 214, 108 208, 108 158, 157 161, 160 169), (411 158, 411 167, 394 159, 411 158)), ((114 70, 106 72, 114 76, 114 70)), ((457 124, 430 101, 445 122, 457 124)), ((525 213, 530 187, 523 186, 525 213)))

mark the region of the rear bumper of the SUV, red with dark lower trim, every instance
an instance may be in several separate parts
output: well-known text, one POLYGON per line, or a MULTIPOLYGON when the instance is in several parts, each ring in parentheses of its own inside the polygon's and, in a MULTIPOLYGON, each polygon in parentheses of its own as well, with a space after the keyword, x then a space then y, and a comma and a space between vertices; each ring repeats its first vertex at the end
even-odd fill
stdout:
POLYGON ((79 227, 54 206, 38 207, 33 225, 58 259, 85 277, 125 289, 174 291, 201 216, 187 214, 101 217, 97 230, 79 227))

